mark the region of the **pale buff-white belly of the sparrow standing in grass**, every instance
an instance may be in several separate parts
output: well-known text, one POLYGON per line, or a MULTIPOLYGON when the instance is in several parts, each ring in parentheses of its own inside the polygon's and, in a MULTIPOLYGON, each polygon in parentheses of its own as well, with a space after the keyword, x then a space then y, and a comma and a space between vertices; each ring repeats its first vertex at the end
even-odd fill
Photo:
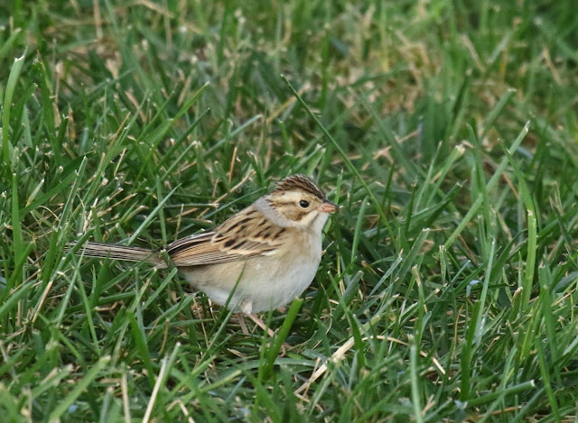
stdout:
POLYGON ((182 272, 217 304, 225 305, 230 297, 228 308, 257 313, 282 307, 300 296, 311 285, 320 261, 321 251, 307 257, 299 254, 293 260, 258 257, 247 262, 195 266, 182 272))

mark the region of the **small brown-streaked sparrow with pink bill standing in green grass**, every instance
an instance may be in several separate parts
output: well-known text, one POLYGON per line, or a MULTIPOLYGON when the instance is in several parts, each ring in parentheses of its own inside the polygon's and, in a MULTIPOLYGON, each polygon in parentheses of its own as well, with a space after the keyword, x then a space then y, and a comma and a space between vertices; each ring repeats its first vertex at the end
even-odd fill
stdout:
MULTIPOLYGON (((212 231, 165 250, 191 285, 219 305, 230 296, 228 308, 246 314, 279 308, 311 284, 322 258, 323 226, 338 208, 311 179, 294 175, 212 231)), ((138 247, 87 243, 79 253, 166 267, 159 251, 138 247)))

